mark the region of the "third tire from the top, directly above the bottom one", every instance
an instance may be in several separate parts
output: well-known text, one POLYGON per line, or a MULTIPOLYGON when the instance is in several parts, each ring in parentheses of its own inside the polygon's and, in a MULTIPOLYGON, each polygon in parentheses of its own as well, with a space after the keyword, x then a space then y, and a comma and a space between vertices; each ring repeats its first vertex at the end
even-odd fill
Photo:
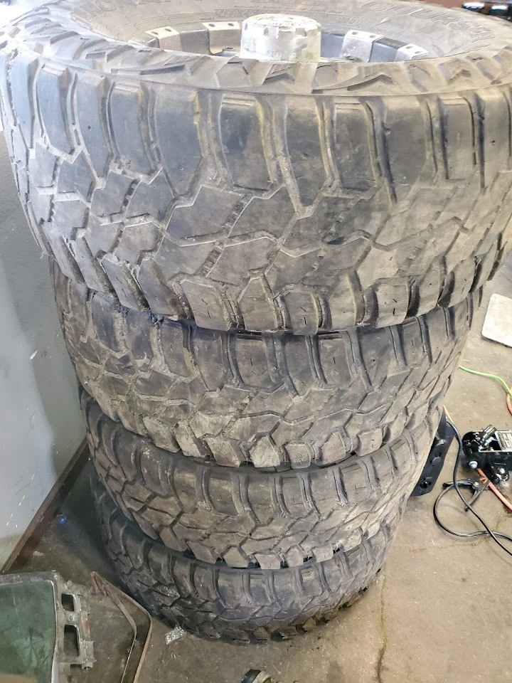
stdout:
POLYGON ((358 546, 410 494, 440 416, 432 411, 371 455, 267 474, 156 448, 107 418, 85 392, 82 410, 103 485, 146 535, 210 564, 264 569, 324 561, 358 546))

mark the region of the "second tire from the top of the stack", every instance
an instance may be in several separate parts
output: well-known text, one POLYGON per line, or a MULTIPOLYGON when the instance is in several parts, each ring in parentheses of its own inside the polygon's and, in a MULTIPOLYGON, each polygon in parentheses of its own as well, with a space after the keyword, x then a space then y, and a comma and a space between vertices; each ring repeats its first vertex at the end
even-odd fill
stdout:
POLYGON ((331 465, 425 418, 481 292, 395 327, 316 337, 212 332, 120 307, 53 269, 82 386, 156 445, 230 467, 331 465))

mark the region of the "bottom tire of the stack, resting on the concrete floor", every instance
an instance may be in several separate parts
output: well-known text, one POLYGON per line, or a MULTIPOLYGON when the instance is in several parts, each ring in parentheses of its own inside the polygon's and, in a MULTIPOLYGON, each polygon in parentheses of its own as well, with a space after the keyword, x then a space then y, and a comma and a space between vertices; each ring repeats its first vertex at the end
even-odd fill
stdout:
POLYGON ((405 500, 361 540, 324 562, 284 569, 233 569, 166 548, 124 517, 93 477, 107 552, 134 598, 156 617, 208 638, 291 637, 353 603, 383 566, 405 500))

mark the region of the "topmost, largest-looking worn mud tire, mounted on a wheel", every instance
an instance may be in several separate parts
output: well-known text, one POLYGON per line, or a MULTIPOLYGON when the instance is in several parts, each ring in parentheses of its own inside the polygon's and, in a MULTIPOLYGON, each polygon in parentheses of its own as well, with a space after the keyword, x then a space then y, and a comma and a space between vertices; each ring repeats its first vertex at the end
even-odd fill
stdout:
POLYGON ((57 2, 6 29, 4 127, 42 248, 126 307, 210 329, 385 327, 464 300, 512 241, 508 26, 405 1, 294 4, 437 55, 336 68, 127 43, 261 9, 57 2))

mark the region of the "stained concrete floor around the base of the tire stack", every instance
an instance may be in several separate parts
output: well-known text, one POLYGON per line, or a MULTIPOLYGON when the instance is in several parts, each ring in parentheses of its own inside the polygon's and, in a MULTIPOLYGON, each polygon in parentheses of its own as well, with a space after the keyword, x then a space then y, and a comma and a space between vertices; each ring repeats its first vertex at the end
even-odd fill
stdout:
MULTIPOLYGON (((481 337, 492 292, 512 295, 511 262, 486 287, 463 360, 510 382, 512 349, 481 337)), ((498 383, 463 371, 457 371, 447 408, 462 433, 489 423, 512 426, 498 383)), ((454 449, 440 481, 452 479, 453 462, 454 449)), ((502 490, 512 497, 512 486, 502 490)), ((512 681, 512 560, 489 539, 459 541, 444 534, 432 519, 435 496, 410 500, 378 583, 333 622, 296 640, 247 646, 190 635, 166 645, 168 629, 156 623, 140 683, 238 683, 250 667, 266 668, 283 683, 512 681)), ((493 494, 486 492, 478 509, 494 528, 512 534, 512 519, 493 494)), ((84 583, 95 569, 115 580, 97 536, 85 475, 61 512, 66 521, 55 519, 27 568, 55 568, 84 583)), ((476 528, 455 497, 443 514, 458 529, 476 528)), ((80 680, 92 683, 99 673, 80 680)))

